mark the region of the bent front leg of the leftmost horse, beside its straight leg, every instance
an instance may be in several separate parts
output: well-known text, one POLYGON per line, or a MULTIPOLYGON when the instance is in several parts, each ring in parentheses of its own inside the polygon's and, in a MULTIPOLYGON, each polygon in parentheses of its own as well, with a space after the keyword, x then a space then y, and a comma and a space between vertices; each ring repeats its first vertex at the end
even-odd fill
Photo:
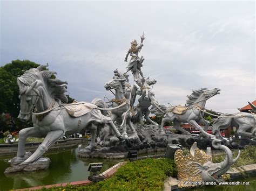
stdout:
POLYGON ((37 128, 25 128, 19 131, 19 142, 18 142, 18 152, 17 157, 24 157, 26 154, 25 151, 25 142, 28 137, 44 137, 37 128))

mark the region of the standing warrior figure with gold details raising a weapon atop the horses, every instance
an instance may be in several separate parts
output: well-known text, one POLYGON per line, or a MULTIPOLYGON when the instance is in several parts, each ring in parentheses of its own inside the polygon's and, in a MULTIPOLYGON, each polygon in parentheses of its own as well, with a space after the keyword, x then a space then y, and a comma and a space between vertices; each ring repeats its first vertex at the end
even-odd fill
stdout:
POLYGON ((126 72, 124 74, 126 74, 127 72, 129 72, 130 70, 132 70, 132 74, 134 77, 134 80, 138 80, 139 74, 140 76, 143 77, 143 73, 142 73, 142 62, 144 61, 143 56, 141 56, 139 58, 138 54, 140 52, 140 49, 142 49, 143 47, 143 40, 145 39, 144 37, 144 32, 143 35, 140 36, 140 45, 137 44, 137 41, 134 39, 133 41, 131 41, 131 48, 129 49, 129 51, 127 52, 126 56, 125 56, 125 62, 127 62, 127 58, 129 56, 129 54, 132 56, 131 60, 129 62, 129 65, 126 67, 126 72))

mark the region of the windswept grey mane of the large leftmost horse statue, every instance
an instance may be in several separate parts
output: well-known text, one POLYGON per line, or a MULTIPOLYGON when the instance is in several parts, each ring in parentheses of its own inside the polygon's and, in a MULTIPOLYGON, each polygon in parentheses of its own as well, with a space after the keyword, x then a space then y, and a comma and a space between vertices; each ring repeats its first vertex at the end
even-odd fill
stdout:
POLYGON ((31 86, 33 82, 36 80, 43 80, 46 84, 46 88, 49 90, 50 95, 53 98, 61 100, 63 103, 68 102, 68 98, 64 94, 66 92, 66 84, 65 81, 52 79, 52 75, 57 74, 56 72, 42 70, 43 68, 48 67, 48 65, 40 65, 37 68, 31 68, 26 70, 26 72, 18 77, 18 86, 20 89, 20 93, 24 93, 24 91, 31 86))

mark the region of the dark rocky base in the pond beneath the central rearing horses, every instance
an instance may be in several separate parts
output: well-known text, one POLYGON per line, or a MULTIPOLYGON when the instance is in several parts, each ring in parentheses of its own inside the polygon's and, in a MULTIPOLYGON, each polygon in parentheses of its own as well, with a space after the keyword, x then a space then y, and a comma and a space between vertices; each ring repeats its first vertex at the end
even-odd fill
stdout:
POLYGON ((158 125, 133 125, 137 131, 131 133, 127 130, 128 137, 120 141, 117 137, 109 134, 109 128, 100 131, 97 138, 97 148, 92 151, 85 148, 78 152, 79 157, 120 159, 126 158, 129 150, 154 150, 165 148, 168 144, 167 135, 160 135, 158 125))

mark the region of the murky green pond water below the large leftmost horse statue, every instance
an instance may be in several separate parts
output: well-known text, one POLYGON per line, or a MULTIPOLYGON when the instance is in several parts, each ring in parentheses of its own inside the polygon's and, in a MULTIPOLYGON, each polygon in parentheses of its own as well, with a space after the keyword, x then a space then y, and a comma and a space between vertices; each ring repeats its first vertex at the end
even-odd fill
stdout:
POLYGON ((62 182, 87 180, 90 175, 87 171, 90 163, 103 162, 101 172, 104 172, 118 162, 125 160, 80 158, 77 157, 77 152, 80 150, 80 146, 84 147, 87 146, 87 144, 78 145, 76 148, 61 152, 46 153, 45 157, 51 159, 50 168, 46 171, 5 175, 5 169, 10 166, 8 160, 12 157, 0 158, 0 190, 29 188, 53 185, 62 182))

